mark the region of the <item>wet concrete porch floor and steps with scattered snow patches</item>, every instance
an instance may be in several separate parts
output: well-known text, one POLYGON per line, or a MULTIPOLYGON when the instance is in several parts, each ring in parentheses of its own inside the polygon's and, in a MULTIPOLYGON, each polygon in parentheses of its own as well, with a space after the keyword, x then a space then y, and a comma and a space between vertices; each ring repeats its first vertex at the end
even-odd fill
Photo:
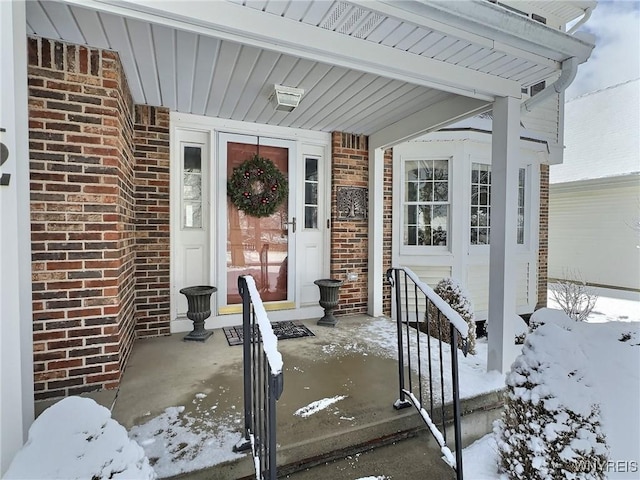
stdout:
MULTIPOLYGON (((362 335, 373 320, 341 317, 334 328, 304 321, 314 337, 278 343, 284 359, 284 392, 277 404, 281 478, 339 480, 374 475, 364 470, 357 473, 358 465, 361 470, 378 465, 376 475, 396 480, 453 478, 417 412, 393 408, 398 398, 397 361, 369 344, 370 332, 362 335), (312 402, 336 396, 344 398, 313 415, 294 414, 312 402), (381 446, 375 454, 371 452, 381 446), (357 461, 349 463, 354 458, 357 461), (333 460, 338 462, 330 463, 333 460), (416 477, 416 471, 429 473, 416 477)), ((215 418, 234 418, 233 428, 241 433, 242 347, 229 346, 221 329, 205 343, 185 342, 184 335, 138 340, 119 389, 90 396, 111 408, 113 418, 128 430, 168 407, 184 406, 183 413, 195 418, 196 426, 198 418, 202 425, 210 425, 215 418)), ((473 412, 468 416, 472 420, 465 421, 465 445, 490 431, 500 404, 498 393, 463 402, 463 411, 473 412)), ((244 455, 179 477, 255 478, 252 466, 244 455)))

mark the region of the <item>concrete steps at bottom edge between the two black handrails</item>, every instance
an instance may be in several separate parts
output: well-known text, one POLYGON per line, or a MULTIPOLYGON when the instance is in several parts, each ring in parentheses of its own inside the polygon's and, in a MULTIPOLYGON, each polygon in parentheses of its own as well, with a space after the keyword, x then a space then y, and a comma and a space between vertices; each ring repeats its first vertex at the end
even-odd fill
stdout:
MULTIPOLYGON (((500 416, 502 393, 492 392, 461 402, 463 447, 491 431, 500 416)), ((440 448, 413 408, 394 411, 379 421, 278 448, 278 478, 293 480, 354 480, 367 476, 389 479, 455 478, 442 460, 440 448), (370 472, 370 473, 367 473, 370 472)), ((450 417, 450 412, 447 412, 450 417)), ((441 419, 434 418, 441 422, 441 419)), ((447 436, 453 438, 450 422, 447 436)), ((278 442, 280 444, 280 442, 278 442)), ((453 449, 453 444, 451 446, 453 449)), ((249 455, 214 467, 183 474, 175 479, 253 479, 249 455)))

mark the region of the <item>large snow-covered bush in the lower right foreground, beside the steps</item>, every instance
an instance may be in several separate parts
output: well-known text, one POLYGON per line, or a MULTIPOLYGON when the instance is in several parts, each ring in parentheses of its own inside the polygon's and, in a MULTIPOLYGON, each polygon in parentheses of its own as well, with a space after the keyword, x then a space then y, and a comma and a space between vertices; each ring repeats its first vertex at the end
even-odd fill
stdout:
MULTIPOLYGON (((584 350, 566 315, 547 309, 507 374, 502 418, 494 426, 503 478, 605 478, 608 447, 584 350)), ((538 318, 534 318, 538 317, 538 318)))

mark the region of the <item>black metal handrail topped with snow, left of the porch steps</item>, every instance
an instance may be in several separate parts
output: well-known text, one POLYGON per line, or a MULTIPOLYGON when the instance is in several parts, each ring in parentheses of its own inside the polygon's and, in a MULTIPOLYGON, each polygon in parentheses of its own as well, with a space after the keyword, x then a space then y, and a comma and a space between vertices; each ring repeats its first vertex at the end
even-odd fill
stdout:
POLYGON ((276 480, 276 401, 282 395, 282 355, 251 275, 238 277, 242 297, 244 438, 235 451, 251 448, 256 478, 276 480))

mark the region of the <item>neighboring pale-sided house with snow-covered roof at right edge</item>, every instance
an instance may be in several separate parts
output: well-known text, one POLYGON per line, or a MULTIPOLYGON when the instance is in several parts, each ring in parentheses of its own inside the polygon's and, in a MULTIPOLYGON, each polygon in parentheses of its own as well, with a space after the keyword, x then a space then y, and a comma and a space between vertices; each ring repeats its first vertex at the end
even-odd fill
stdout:
POLYGON ((565 105, 551 167, 549 278, 640 291, 640 79, 565 105))

